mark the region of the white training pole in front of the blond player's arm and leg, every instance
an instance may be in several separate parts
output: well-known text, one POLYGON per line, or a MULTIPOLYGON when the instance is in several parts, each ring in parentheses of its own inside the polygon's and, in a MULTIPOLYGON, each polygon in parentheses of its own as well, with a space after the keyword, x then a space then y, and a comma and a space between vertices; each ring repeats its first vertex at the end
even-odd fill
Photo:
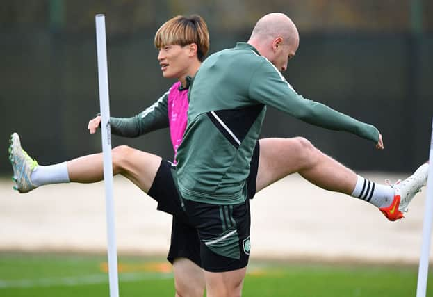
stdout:
POLYGON ((99 104, 101 106, 102 153, 104 154, 104 183, 108 237, 108 277, 110 297, 119 296, 117 251, 114 227, 113 163, 111 158, 110 102, 108 98, 108 67, 105 39, 105 16, 96 15, 96 46, 98 55, 99 104))

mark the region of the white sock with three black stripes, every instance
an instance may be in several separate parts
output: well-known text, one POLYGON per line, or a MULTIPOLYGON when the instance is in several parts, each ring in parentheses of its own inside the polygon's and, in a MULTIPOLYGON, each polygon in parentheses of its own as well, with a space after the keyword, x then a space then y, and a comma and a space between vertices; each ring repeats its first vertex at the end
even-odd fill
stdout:
POLYGON ((351 196, 377 207, 389 207, 394 200, 394 189, 391 186, 376 184, 358 175, 357 184, 351 196))

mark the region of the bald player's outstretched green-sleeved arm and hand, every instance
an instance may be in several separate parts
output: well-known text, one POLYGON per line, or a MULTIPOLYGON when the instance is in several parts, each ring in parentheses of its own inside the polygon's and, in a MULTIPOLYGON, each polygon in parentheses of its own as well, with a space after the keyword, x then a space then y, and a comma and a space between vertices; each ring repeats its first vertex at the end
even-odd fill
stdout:
POLYGON ((348 131, 374 141, 377 148, 383 148, 382 136, 376 127, 355 120, 325 104, 305 99, 296 93, 278 70, 265 63, 252 77, 249 90, 252 99, 273 106, 312 125, 336 131, 348 131))

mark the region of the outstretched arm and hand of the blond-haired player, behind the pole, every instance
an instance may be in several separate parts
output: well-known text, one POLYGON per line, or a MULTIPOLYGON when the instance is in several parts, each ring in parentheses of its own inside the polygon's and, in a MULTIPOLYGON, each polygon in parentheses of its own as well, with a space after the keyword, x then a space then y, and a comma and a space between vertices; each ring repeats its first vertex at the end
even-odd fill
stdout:
MULTIPOLYGON (((147 109, 130 118, 110 118, 111 133, 124 137, 138 137, 142 134, 168 127, 168 92, 147 109)), ((101 117, 89 121, 90 134, 95 133, 101 124, 101 117)))

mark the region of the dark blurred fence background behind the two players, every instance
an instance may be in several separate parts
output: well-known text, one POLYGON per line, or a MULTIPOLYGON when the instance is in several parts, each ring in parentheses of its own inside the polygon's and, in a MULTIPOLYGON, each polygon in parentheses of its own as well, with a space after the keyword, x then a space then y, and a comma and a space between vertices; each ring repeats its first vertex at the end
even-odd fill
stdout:
MULTIPOLYGON (((19 132, 42 164, 99 152, 87 123, 99 112, 95 14, 106 14, 111 115, 131 116, 174 81, 163 79, 154 33, 174 15, 198 13, 211 53, 246 41, 259 17, 280 11, 300 31, 284 74, 298 93, 379 128, 385 150, 270 109, 263 137, 304 136, 357 170, 406 172, 428 157, 433 115, 433 1, 73 1, 0 3, 0 174, 19 132)), ((113 138, 172 157, 168 131, 113 138)))

